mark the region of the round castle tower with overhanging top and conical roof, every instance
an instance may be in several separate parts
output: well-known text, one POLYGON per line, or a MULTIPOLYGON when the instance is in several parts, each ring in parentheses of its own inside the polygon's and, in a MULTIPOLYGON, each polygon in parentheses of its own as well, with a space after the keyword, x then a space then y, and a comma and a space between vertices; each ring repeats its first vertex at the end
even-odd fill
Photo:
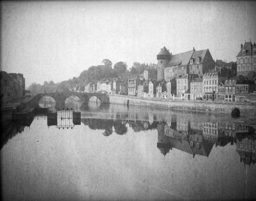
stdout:
POLYGON ((163 47, 158 55, 156 56, 157 59, 157 80, 163 81, 164 80, 164 67, 168 65, 171 60, 172 54, 170 54, 169 50, 166 47, 163 47))

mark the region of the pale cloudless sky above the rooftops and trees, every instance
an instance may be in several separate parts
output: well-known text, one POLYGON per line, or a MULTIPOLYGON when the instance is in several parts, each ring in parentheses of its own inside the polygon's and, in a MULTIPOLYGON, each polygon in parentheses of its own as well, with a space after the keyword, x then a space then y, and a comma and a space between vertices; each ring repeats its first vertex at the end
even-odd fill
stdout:
POLYGON ((241 43, 256 42, 253 1, 1 1, 1 70, 32 82, 77 77, 103 59, 157 63, 209 48, 236 61, 241 43))

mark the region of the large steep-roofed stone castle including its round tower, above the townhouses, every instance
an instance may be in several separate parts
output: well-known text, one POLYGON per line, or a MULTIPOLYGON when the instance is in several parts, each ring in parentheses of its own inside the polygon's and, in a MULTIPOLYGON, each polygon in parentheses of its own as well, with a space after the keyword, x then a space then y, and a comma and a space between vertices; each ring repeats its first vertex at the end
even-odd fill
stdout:
POLYGON ((180 78, 185 74, 198 74, 202 76, 215 67, 215 62, 209 49, 191 51, 172 55, 163 47, 157 55, 157 79, 170 80, 180 78))

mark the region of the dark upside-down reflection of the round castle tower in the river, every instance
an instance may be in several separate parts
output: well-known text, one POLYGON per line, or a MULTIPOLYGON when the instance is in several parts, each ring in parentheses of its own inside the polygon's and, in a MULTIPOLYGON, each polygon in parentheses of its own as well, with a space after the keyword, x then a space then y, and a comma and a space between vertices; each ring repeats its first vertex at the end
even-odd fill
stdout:
POLYGON ((167 153, 169 153, 169 150, 172 149, 172 146, 169 141, 169 137, 164 135, 163 123, 157 125, 157 133, 158 133, 157 148, 165 156, 167 153))

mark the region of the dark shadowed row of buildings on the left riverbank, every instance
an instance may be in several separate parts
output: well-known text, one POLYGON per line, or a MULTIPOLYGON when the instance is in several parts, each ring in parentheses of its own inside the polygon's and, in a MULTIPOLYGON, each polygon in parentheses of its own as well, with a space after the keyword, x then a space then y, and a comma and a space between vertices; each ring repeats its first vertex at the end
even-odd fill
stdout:
POLYGON ((25 95, 25 78, 21 73, 0 73, 1 103, 10 103, 25 95))

